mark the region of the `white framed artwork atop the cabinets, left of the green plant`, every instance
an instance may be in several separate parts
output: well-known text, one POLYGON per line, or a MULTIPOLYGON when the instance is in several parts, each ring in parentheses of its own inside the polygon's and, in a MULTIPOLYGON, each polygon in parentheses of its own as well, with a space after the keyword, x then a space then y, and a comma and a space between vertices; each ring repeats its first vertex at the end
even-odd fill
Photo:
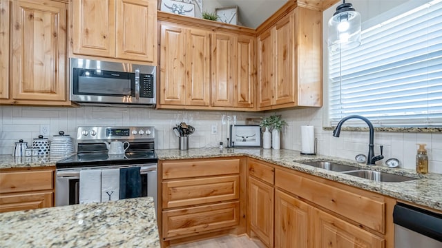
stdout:
POLYGON ((202 0, 161 0, 160 10, 186 17, 201 17, 202 0))

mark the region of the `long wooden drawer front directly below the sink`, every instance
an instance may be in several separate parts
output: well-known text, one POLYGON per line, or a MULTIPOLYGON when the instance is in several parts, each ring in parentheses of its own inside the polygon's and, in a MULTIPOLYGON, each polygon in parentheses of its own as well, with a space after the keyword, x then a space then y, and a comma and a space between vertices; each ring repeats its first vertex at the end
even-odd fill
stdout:
POLYGON ((275 185, 366 227, 385 233, 385 203, 276 169, 275 185))

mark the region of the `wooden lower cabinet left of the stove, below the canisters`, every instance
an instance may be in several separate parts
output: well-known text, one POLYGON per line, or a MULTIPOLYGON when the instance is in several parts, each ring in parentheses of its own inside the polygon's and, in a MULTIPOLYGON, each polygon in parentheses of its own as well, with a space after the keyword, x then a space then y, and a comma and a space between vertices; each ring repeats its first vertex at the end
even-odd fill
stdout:
POLYGON ((8 169, 0 172, 0 212, 54 206, 55 169, 8 169))

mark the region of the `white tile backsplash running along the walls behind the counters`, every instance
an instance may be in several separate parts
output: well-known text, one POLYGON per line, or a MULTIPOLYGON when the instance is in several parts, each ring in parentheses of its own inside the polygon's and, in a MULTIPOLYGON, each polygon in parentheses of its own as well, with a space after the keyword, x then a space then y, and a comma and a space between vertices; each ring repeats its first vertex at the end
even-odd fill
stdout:
MULTIPOLYGON (((282 110, 287 127, 282 130, 281 147, 300 150, 300 126, 314 125, 318 138, 318 154, 354 159, 357 154, 367 154, 367 132, 341 132, 340 138, 332 136, 332 131, 323 130, 323 108, 282 110)), ((189 138, 189 147, 215 147, 220 141, 226 143, 227 124, 222 124, 222 115, 237 116, 237 124, 245 124, 247 118, 260 118, 273 112, 218 112, 218 111, 181 111, 153 110, 138 107, 16 107, 1 106, 0 116, 0 154, 12 154, 14 143, 23 139, 28 145, 32 138, 40 134, 40 127, 50 127, 50 136, 60 130, 73 138, 77 136, 80 125, 153 125, 156 130, 156 149, 177 149, 178 138, 172 131, 182 121, 195 127, 189 138), (215 125, 217 134, 211 134, 215 125)), ((430 172, 442 174, 442 134, 439 133, 394 133, 375 132, 375 154, 379 145, 384 145, 385 161, 398 158, 401 167, 414 169, 417 145, 426 143, 430 172)))

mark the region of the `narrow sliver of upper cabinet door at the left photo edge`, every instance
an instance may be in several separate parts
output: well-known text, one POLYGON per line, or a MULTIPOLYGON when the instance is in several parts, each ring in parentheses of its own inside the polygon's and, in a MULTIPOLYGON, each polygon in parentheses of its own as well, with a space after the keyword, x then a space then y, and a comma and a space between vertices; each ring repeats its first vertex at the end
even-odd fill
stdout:
POLYGON ((0 99, 9 99, 9 0, 0 0, 0 99))

